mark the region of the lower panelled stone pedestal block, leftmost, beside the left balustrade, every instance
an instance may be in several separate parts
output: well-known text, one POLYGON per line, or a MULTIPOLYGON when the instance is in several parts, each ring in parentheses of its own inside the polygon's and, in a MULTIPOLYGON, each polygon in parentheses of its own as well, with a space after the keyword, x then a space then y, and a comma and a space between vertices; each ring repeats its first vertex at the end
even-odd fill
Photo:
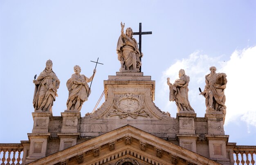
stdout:
POLYGON ((26 158, 26 163, 30 163, 39 158, 43 158, 46 156, 47 151, 47 143, 51 136, 50 133, 32 133, 27 134, 29 137, 30 147, 29 147, 29 155, 26 158))

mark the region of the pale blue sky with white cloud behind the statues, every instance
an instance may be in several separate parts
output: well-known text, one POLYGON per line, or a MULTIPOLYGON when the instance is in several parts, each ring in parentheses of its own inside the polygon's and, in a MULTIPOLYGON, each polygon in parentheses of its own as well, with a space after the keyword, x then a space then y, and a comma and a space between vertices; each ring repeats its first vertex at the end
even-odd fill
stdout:
POLYGON ((197 117, 204 117, 198 87, 204 88, 204 75, 216 66, 217 73, 227 74, 229 142, 256 145, 255 9, 254 0, 0 0, 0 143, 27 140, 33 128, 32 80, 47 59, 61 81, 53 106, 53 115, 61 116, 73 66, 81 66, 81 73, 89 77, 95 67, 90 61, 99 57, 104 65, 97 66, 81 115, 92 112, 103 80, 120 68, 116 44, 122 21, 134 32, 139 22, 142 31, 153 32, 142 36, 142 72, 156 81, 154 102, 160 110, 176 117, 166 78, 175 81, 183 68, 191 80, 191 106, 197 117))

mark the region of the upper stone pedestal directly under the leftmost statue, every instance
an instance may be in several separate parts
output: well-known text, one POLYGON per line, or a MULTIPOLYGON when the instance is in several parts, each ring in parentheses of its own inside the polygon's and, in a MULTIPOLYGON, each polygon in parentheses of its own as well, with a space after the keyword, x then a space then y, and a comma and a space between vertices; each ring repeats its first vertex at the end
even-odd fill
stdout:
POLYGON ((34 125, 32 133, 48 133, 52 112, 33 112, 34 125))

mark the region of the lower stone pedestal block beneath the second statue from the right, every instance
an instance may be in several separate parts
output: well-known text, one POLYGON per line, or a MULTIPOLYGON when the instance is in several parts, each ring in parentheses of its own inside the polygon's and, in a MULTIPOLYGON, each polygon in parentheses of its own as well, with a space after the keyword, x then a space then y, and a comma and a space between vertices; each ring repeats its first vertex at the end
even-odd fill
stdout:
POLYGON ((176 136, 181 147, 184 147, 190 151, 196 152, 196 142, 198 141, 199 135, 177 134, 176 136))

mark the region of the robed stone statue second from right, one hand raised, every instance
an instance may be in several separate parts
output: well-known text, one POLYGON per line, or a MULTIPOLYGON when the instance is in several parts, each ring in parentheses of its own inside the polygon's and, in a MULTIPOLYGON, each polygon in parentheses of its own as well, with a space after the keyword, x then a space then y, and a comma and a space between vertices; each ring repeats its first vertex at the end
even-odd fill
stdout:
POLYGON ((167 78, 167 84, 170 88, 170 101, 175 101, 178 113, 180 112, 195 112, 189 103, 189 76, 185 75, 185 70, 179 71, 179 78, 173 84, 170 83, 170 78, 167 78))

